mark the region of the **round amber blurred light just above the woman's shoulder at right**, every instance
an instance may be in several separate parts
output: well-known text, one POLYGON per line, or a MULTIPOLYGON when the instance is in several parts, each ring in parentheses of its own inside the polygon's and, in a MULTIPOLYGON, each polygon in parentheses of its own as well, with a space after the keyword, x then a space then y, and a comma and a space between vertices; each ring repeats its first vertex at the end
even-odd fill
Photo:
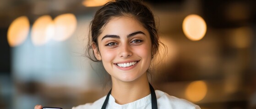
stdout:
POLYGON ((191 82, 185 91, 186 97, 193 102, 202 100, 206 94, 207 85, 204 81, 191 82))

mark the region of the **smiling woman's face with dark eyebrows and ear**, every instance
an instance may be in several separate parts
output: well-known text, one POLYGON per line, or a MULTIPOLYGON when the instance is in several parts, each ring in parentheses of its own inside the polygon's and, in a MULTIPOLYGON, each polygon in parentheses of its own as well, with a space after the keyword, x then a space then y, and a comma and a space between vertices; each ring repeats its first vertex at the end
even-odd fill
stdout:
POLYGON ((111 78, 124 82, 147 75, 152 59, 150 35, 132 17, 112 18, 98 37, 98 49, 93 50, 111 78))

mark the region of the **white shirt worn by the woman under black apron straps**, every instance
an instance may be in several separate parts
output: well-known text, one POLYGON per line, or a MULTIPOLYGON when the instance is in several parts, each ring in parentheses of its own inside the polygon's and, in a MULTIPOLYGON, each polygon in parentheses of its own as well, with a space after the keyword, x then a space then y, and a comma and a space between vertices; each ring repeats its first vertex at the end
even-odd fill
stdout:
MULTIPOLYGON (((174 96, 170 96, 160 90, 155 90, 158 102, 158 109, 200 109, 196 104, 193 104, 185 99, 179 99, 174 96)), ((72 109, 101 109, 106 96, 98 99, 94 103, 87 103, 73 107, 72 109)), ((115 103, 114 97, 110 94, 109 102, 106 109, 152 109, 151 107, 151 94, 142 99, 138 99, 128 104, 115 103)))

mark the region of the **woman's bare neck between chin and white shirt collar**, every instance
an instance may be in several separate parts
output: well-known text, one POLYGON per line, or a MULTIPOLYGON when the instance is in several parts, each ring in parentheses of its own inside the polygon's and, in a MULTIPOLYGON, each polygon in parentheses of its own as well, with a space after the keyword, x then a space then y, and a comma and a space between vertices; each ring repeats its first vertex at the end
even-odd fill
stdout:
POLYGON ((140 78, 131 82, 112 79, 111 95, 117 104, 131 103, 146 97, 148 94, 150 94, 150 88, 147 73, 144 73, 140 78))

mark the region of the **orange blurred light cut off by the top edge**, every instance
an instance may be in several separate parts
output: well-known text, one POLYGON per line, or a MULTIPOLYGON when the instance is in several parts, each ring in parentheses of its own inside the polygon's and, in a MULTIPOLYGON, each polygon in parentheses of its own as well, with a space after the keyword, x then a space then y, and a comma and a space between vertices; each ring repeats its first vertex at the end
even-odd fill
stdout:
POLYGON ((106 4, 109 0, 84 0, 82 4, 86 7, 97 7, 106 4))

